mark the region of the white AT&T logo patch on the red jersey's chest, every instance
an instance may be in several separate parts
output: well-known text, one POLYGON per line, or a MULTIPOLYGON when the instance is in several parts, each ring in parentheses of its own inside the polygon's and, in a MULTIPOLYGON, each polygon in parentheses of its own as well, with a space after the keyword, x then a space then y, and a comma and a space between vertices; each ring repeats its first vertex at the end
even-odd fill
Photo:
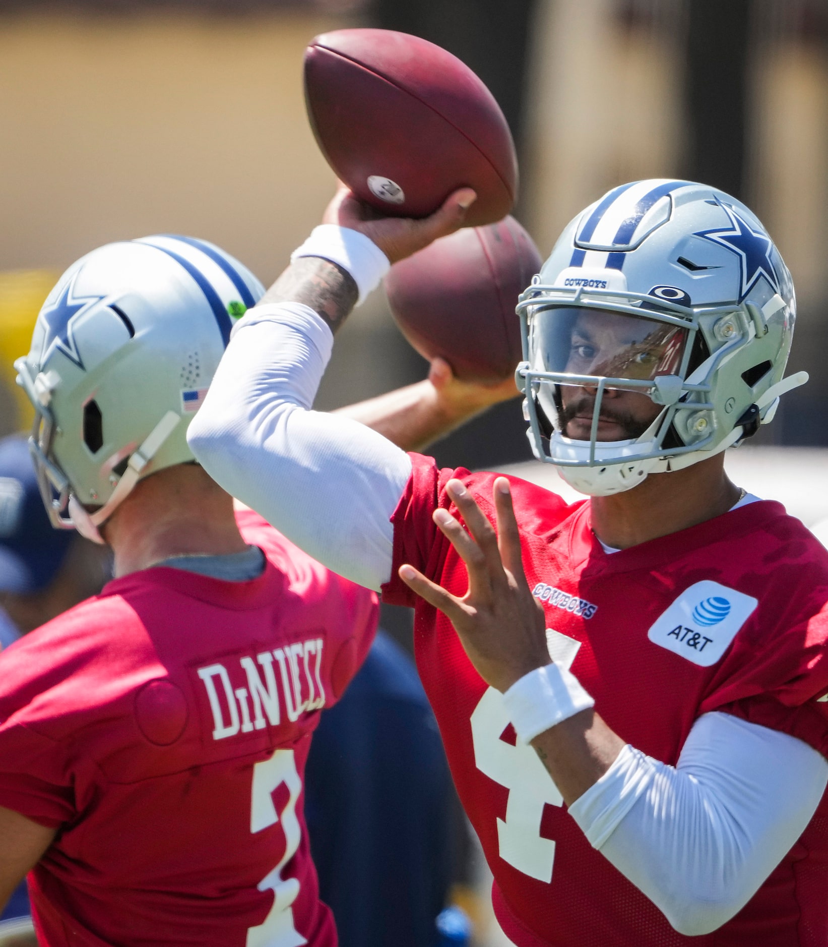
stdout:
POLYGON ((752 596, 705 580, 691 585, 647 632, 653 644, 701 668, 721 660, 759 604, 752 596))

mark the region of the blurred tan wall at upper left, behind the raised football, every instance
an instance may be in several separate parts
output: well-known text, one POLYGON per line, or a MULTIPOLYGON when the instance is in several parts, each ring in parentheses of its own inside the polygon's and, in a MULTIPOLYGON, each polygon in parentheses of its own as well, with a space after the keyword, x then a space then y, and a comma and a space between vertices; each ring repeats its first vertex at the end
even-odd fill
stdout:
POLYGON ((0 270, 62 269, 101 243, 172 231, 272 279, 333 188, 302 55, 344 25, 287 12, 5 17, 0 270))

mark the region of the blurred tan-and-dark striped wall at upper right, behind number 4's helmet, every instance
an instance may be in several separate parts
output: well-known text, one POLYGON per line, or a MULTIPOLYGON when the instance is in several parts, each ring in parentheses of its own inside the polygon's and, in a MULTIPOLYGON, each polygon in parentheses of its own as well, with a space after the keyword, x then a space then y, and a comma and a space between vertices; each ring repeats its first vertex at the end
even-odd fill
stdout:
POLYGON ((707 173, 714 185, 739 181, 797 288, 788 371, 811 374, 756 439, 828 444, 828 7, 824 0, 741 0, 742 22, 735 5, 728 7, 712 0, 544 0, 527 90, 524 223, 547 254, 574 214, 625 181, 707 173), (744 65, 744 82, 727 63, 716 68, 723 58, 694 61, 705 28, 731 30, 717 34, 715 45, 721 57, 744 65), (703 74, 694 76, 694 68, 703 74), (732 167, 727 124, 721 138, 702 129, 705 151, 694 156, 690 118, 707 111, 735 122, 735 106, 745 112, 733 130, 744 134, 744 167, 732 167))

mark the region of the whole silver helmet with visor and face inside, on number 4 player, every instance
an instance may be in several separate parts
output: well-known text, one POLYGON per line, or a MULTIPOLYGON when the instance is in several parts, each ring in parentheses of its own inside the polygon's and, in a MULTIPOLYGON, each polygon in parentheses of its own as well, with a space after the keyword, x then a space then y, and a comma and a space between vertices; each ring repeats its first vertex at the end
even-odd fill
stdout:
POLYGON ((518 312, 533 451, 593 496, 740 443, 807 381, 783 379, 796 302, 779 251, 748 207, 700 184, 610 190, 518 312))

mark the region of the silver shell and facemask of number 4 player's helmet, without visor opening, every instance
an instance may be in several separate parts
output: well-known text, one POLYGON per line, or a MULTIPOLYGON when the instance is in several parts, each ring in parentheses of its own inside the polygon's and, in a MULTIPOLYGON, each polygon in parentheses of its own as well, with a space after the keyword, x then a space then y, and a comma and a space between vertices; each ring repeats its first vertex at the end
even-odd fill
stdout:
POLYGON ((521 297, 519 311, 526 315, 529 358, 519 376, 535 371, 528 385, 532 403, 527 402, 530 420, 533 412, 539 418, 529 432, 533 449, 540 459, 558 464, 578 490, 595 495, 628 490, 649 473, 713 456, 771 420, 778 402, 774 389, 782 383, 790 352, 796 298, 784 260, 746 205, 706 185, 654 179, 613 188, 575 217, 536 286, 521 297), (675 379, 673 401, 659 401, 659 393, 653 398, 666 406, 641 438, 593 444, 553 431, 550 405, 555 384, 564 383, 560 372, 538 364, 543 359, 532 335, 533 312, 550 305, 617 308, 654 318, 661 313, 686 321, 695 353, 675 379), (702 394, 693 385, 709 388, 702 394), (743 423, 746 417, 755 423, 743 423), (548 450, 541 430, 552 432, 548 450))

